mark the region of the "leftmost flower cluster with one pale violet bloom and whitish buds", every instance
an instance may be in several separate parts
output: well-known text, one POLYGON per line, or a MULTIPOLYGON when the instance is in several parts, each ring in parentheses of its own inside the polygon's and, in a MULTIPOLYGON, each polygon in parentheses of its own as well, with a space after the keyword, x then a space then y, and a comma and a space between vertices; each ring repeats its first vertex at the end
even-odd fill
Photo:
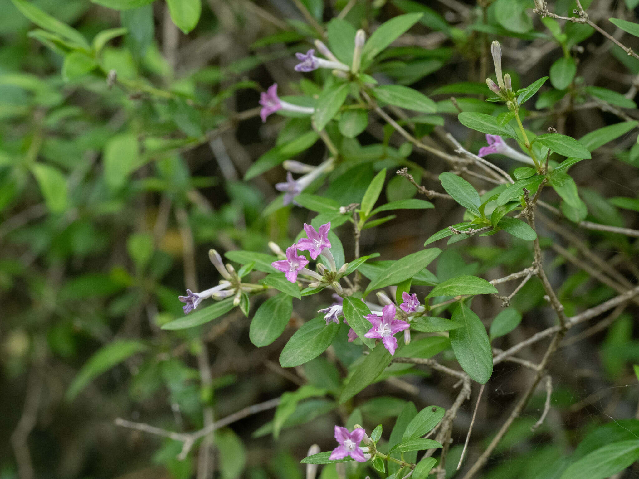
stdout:
POLYGON ((243 283, 242 276, 249 271, 240 270, 235 271, 235 268, 231 264, 224 264, 222 257, 215 250, 209 250, 208 257, 215 266, 215 269, 222 275, 223 280, 220 280, 220 284, 210 289, 206 289, 201 293, 193 293, 190 289, 187 289, 187 296, 178 296, 178 299, 185 303, 182 307, 184 314, 189 314, 192 310, 196 309, 202 300, 206 298, 213 298, 215 301, 229 298, 229 296, 235 295, 233 298, 233 305, 240 304, 243 293, 255 293, 261 291, 267 287, 261 284, 243 283))

